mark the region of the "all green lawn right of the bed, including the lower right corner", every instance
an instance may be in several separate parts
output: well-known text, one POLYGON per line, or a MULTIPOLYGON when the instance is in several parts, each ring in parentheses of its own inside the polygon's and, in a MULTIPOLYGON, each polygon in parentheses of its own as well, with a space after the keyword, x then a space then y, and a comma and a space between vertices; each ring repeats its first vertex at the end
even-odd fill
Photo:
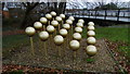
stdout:
MULTIPOLYGON (((129 29, 128 27, 98 27, 95 28, 96 39, 106 38, 113 42, 123 42, 128 46, 119 46, 118 51, 120 51, 123 55, 130 59, 130 41, 129 41, 129 29)), ((86 29, 83 29, 82 36, 86 36, 86 29)))

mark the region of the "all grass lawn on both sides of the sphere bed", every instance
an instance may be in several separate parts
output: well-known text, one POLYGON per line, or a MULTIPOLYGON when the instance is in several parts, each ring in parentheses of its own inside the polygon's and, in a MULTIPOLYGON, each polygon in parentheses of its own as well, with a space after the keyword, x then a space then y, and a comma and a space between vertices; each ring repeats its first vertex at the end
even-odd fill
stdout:
MULTIPOLYGON (((128 40, 128 27, 98 27, 95 28, 96 39, 106 38, 115 44, 117 41, 126 42, 129 45, 128 40)), ((83 28, 82 37, 87 38, 87 29, 83 28)), ((23 46, 29 46, 29 38, 26 35, 10 35, 2 37, 2 48, 3 49, 14 49, 21 48, 23 46)), ((129 45, 130 46, 130 45, 129 45)), ((123 46, 119 48, 120 51, 127 53, 130 57, 130 48, 123 46)), ((4 54, 4 50, 3 50, 4 54)))

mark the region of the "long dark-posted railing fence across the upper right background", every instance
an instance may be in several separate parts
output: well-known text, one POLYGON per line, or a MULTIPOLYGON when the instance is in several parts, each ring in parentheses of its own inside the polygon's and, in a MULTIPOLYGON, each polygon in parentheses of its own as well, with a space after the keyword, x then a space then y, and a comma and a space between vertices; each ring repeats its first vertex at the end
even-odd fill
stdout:
POLYGON ((73 15, 78 17, 89 17, 89 18, 102 18, 102 20, 114 20, 114 21, 125 21, 128 22, 130 18, 129 10, 80 10, 80 9, 69 9, 66 10, 66 15, 73 15))

